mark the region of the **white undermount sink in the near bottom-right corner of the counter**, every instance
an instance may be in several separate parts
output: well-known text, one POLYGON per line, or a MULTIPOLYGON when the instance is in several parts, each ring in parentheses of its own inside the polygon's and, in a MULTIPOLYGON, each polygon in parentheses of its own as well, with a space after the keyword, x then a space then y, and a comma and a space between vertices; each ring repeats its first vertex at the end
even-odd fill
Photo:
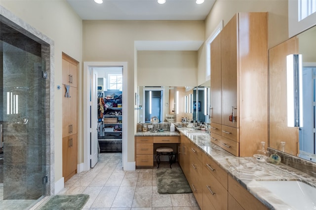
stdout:
POLYGON ((284 203, 297 210, 316 209, 316 188, 301 181, 258 181, 284 203))

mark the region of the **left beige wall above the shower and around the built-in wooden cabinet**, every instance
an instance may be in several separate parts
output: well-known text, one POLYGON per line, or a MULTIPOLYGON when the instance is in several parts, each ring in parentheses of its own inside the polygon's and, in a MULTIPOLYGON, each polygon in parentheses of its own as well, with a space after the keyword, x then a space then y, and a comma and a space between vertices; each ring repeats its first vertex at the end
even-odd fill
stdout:
MULTIPOLYGON (((62 0, 1 0, 0 3, 55 44, 55 75, 51 78, 55 80, 55 181, 58 181, 62 178, 62 90, 57 90, 56 86, 62 83, 62 52, 79 62, 82 60, 82 21, 62 0)), ((81 75, 79 79, 82 80, 81 75)), ((82 88, 79 89, 79 100, 79 113, 82 113, 82 88)), ((79 119, 82 127, 82 115, 79 119)), ((82 151, 82 131, 79 134, 79 150, 82 151)), ((78 158, 82 162, 82 152, 79 152, 78 158)))

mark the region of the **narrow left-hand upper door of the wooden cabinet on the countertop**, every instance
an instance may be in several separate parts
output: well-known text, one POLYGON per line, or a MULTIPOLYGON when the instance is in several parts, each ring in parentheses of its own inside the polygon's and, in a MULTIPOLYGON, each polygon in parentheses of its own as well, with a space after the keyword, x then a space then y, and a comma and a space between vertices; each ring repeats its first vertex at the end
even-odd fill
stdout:
POLYGON ((222 64, 221 64, 221 34, 211 43, 211 122, 222 123, 222 64))

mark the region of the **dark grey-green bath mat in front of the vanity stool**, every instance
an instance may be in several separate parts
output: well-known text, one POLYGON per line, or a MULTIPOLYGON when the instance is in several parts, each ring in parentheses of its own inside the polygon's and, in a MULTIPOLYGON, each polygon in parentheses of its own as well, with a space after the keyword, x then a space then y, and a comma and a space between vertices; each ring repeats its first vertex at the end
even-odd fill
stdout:
POLYGON ((157 169, 157 189, 160 194, 191 193, 190 185, 181 168, 157 169))

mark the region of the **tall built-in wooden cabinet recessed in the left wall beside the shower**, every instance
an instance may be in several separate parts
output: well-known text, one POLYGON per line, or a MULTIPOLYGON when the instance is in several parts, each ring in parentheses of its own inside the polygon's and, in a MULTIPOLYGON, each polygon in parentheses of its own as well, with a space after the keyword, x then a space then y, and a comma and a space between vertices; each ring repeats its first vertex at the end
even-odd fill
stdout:
POLYGON ((63 177, 66 182, 77 173, 77 75, 79 62, 63 54, 63 177))

